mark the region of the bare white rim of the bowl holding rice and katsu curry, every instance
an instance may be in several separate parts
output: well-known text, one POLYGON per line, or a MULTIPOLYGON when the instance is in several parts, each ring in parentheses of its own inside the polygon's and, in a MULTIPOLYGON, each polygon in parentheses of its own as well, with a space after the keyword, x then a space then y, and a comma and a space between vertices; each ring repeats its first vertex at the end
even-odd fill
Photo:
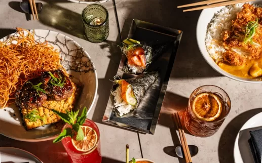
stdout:
POLYGON ((248 78, 243 78, 243 77, 238 77, 235 75, 232 75, 223 69, 221 69, 215 62, 214 60, 210 57, 209 53, 206 50, 206 45, 205 45, 205 37, 206 37, 206 30, 207 26, 210 23, 211 19, 214 17, 215 13, 220 11, 224 7, 217 7, 217 8, 210 8, 210 9, 204 9, 198 19, 198 24, 197 24, 197 43, 199 50, 201 54, 203 55, 204 59, 207 61, 207 63, 217 72, 220 74, 230 77, 232 79, 238 80, 238 81, 243 81, 246 83, 262 83, 262 81, 257 81, 256 79, 248 79, 248 78))

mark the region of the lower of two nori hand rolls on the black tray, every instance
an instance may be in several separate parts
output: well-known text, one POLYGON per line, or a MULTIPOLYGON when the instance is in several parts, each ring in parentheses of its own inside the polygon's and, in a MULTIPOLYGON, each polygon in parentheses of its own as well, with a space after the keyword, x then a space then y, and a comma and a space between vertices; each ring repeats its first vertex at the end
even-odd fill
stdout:
POLYGON ((159 72, 153 71, 138 75, 134 78, 115 80, 119 85, 111 94, 114 98, 114 106, 117 116, 123 116, 136 109, 146 92, 158 79, 159 72))

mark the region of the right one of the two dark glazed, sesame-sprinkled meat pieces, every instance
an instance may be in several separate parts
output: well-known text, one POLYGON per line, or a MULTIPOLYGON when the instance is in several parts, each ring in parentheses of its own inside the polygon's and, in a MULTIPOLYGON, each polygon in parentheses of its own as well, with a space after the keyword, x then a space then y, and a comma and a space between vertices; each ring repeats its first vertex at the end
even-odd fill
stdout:
POLYGON ((65 82, 65 85, 60 87, 60 86, 53 86, 50 82, 48 84, 48 96, 55 101, 61 101, 64 99, 69 98, 72 93, 73 93, 73 89, 72 89, 72 81, 69 77, 65 76, 65 74, 61 71, 61 70, 55 70, 52 72, 52 74, 59 78, 61 77, 62 81, 65 82), (66 80, 66 81, 64 81, 66 80))

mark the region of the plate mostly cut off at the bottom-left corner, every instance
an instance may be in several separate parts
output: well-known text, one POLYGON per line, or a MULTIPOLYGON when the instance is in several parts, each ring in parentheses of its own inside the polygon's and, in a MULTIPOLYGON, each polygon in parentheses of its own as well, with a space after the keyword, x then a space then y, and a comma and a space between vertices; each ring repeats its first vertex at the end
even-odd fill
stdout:
POLYGON ((25 150, 13 147, 0 147, 0 162, 43 163, 38 157, 25 150))

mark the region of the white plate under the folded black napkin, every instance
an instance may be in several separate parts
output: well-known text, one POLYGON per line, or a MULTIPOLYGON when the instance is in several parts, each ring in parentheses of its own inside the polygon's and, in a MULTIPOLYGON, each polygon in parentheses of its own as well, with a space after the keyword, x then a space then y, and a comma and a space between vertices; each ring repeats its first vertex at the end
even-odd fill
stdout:
POLYGON ((249 131, 262 129, 262 112, 251 117, 240 129, 234 146, 234 160, 236 163, 254 162, 248 144, 249 131))

